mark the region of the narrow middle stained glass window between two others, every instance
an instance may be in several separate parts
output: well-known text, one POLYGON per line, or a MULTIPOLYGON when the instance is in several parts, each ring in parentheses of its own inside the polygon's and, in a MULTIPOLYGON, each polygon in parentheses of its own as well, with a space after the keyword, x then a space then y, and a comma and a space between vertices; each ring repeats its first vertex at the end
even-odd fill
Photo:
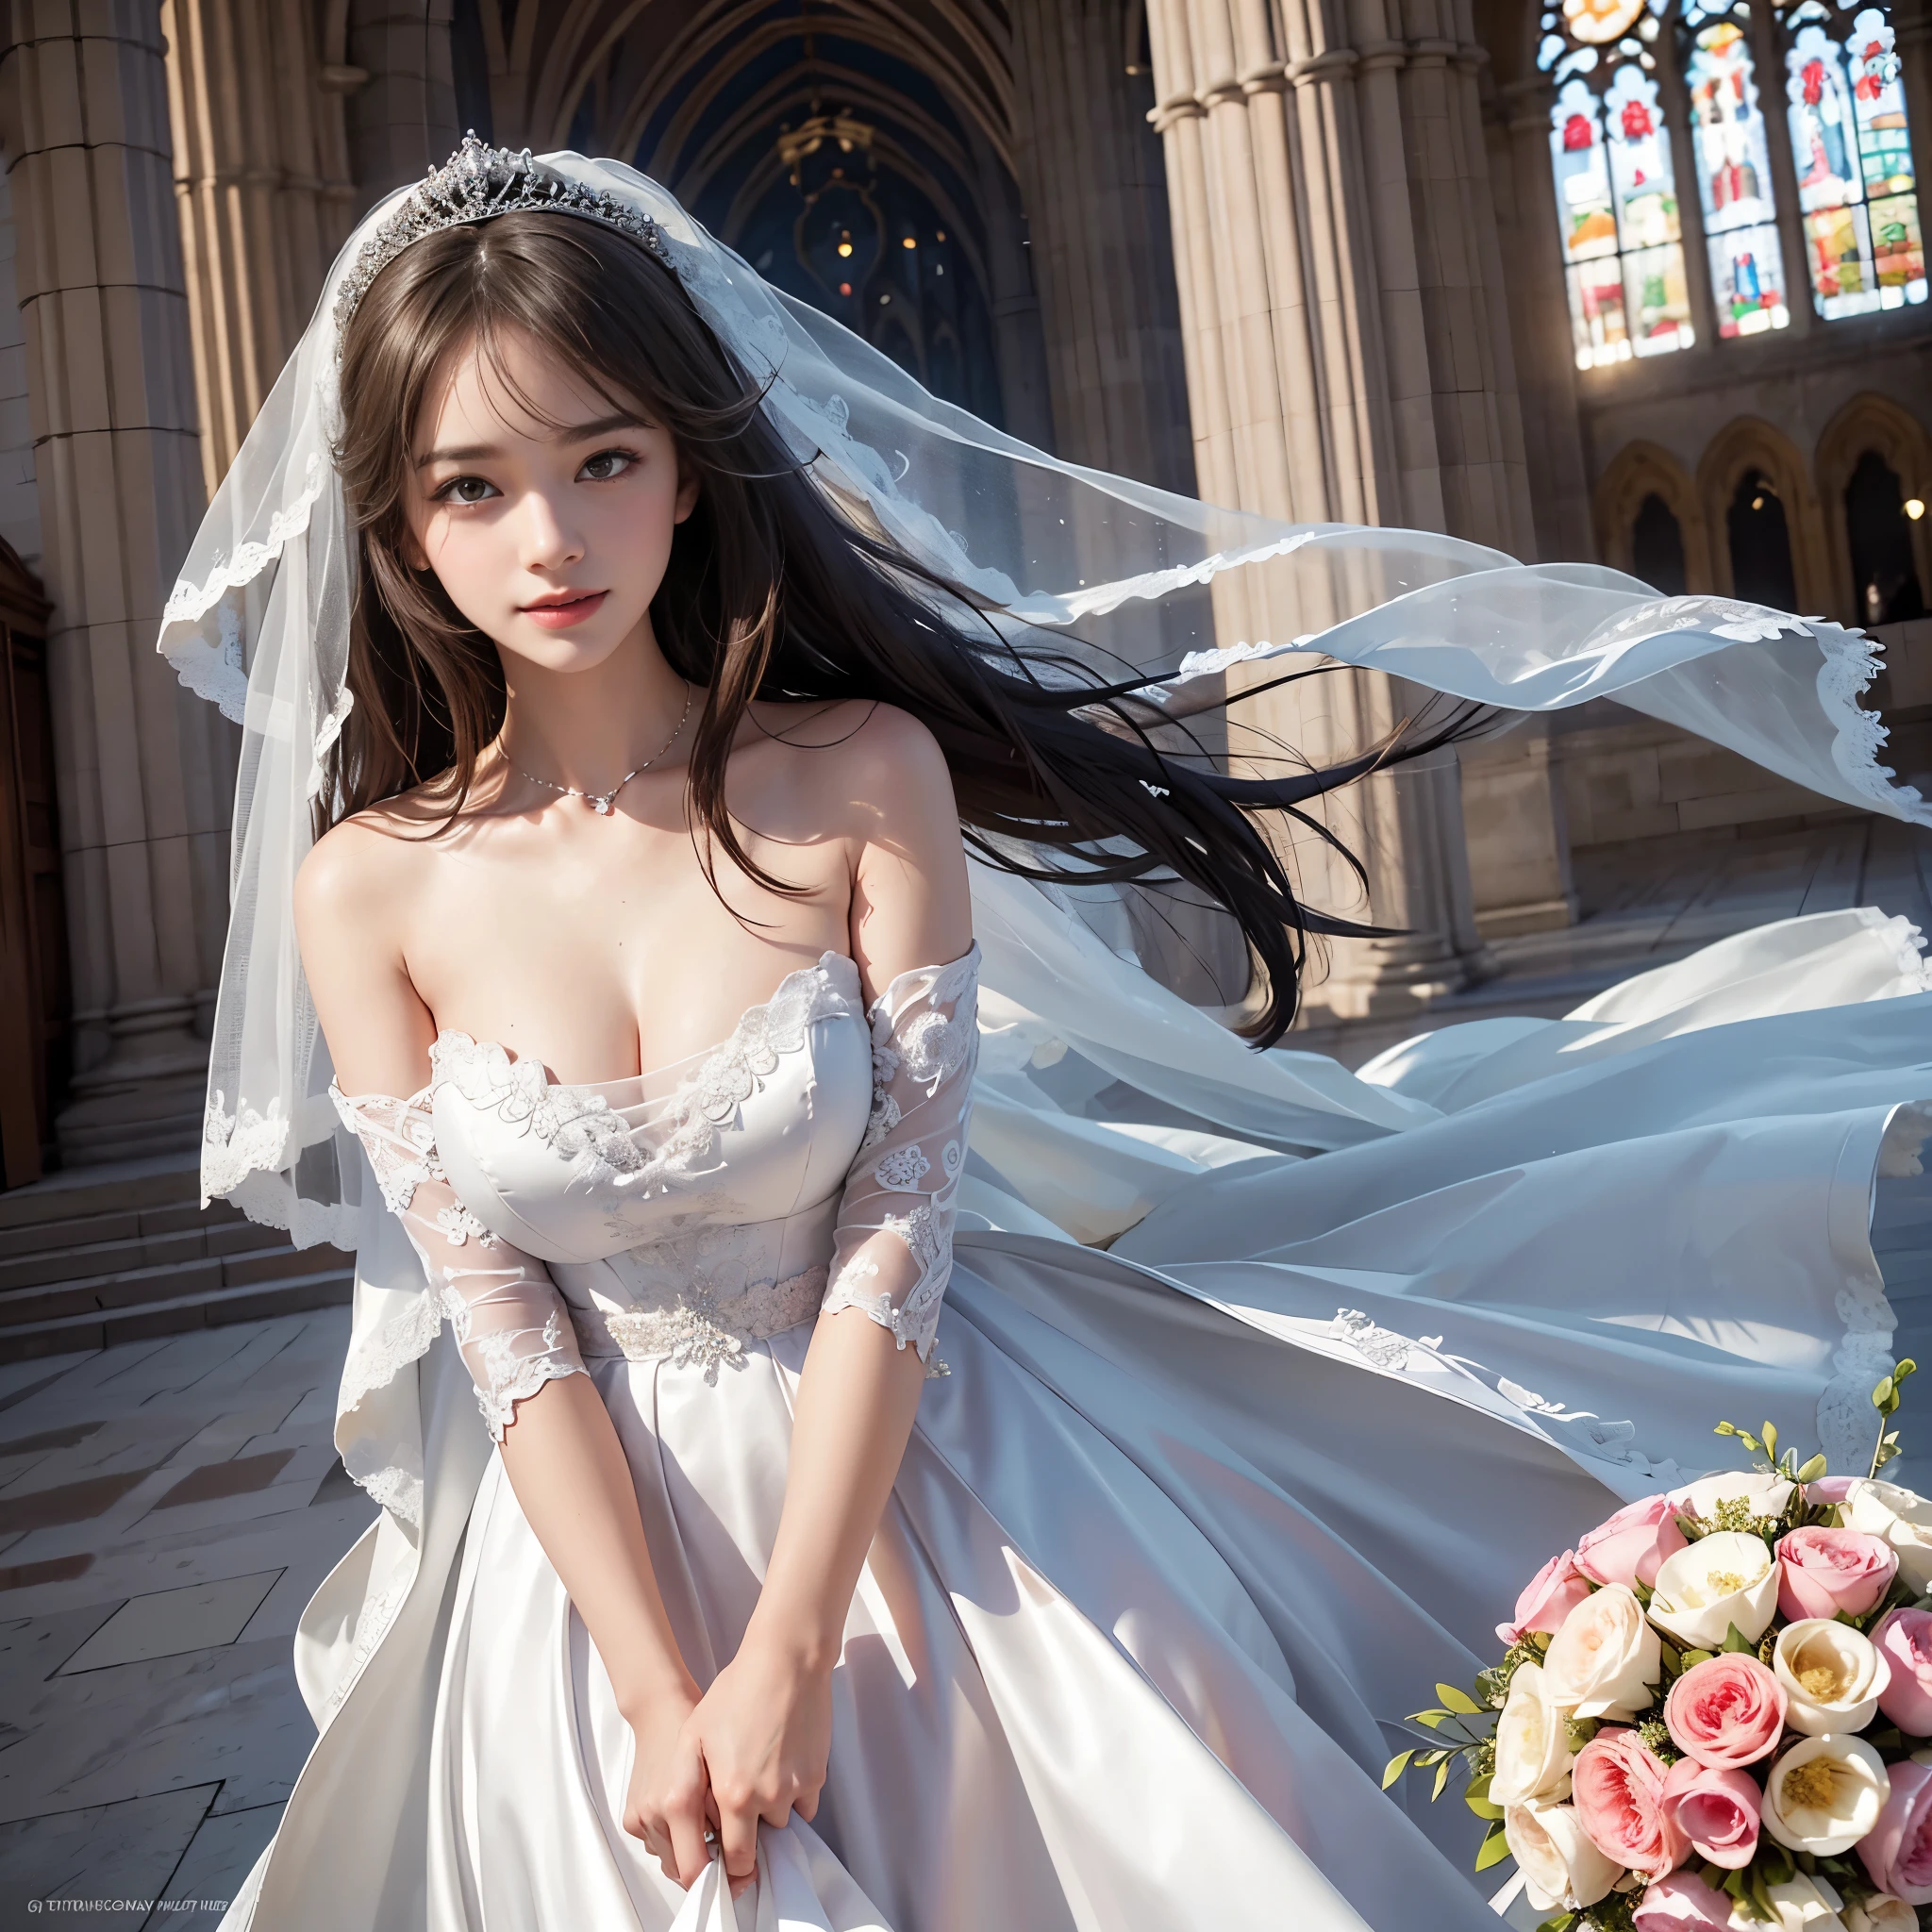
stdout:
POLYGON ((1758 106, 1748 33, 1748 6, 1687 0, 1681 44, 1690 147, 1719 336, 1754 336, 1791 321, 1770 137, 1758 106))

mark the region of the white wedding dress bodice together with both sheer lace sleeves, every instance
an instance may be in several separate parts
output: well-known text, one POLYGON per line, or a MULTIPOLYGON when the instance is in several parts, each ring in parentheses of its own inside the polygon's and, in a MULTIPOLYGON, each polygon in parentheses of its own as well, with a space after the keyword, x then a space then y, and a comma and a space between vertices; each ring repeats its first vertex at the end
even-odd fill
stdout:
POLYGON ((900 974, 867 1014, 829 952, 711 1051, 628 1080, 556 1086, 444 1032, 421 1094, 336 1094, 427 1275, 398 1362, 448 1318, 498 1439, 593 1356, 715 1381, 821 1300, 943 1372, 978 966, 900 974))

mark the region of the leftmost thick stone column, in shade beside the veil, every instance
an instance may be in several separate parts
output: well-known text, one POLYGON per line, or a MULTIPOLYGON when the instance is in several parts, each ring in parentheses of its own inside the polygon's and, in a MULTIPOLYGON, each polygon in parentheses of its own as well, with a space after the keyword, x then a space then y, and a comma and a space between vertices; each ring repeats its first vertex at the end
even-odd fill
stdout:
POLYGON ((17 224, 75 978, 68 1161, 199 1138, 234 730, 155 651, 205 504, 160 15, 10 0, 17 224))

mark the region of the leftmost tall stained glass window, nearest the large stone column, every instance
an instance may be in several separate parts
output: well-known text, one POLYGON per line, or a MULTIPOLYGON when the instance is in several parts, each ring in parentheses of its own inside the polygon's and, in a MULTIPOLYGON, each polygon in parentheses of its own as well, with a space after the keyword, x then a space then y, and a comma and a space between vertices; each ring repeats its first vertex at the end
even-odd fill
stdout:
POLYGON ((1540 64, 1557 81, 1549 156, 1577 365, 1687 348, 1677 178, 1648 46, 1656 17, 1644 0, 1565 0, 1561 25, 1548 15, 1540 64))

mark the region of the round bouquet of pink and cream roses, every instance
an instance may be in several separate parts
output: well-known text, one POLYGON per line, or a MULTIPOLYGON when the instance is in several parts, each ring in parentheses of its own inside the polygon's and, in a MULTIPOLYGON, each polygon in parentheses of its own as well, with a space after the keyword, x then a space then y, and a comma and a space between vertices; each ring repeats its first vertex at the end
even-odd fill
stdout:
POLYGON ((1551 1557, 1383 1789, 1464 1770, 1476 1870, 1513 1857, 1542 1932, 1932 1928, 1932 1503, 1878 1480, 1913 1372, 1864 1476, 1718 1424, 1752 1468, 1551 1557))

